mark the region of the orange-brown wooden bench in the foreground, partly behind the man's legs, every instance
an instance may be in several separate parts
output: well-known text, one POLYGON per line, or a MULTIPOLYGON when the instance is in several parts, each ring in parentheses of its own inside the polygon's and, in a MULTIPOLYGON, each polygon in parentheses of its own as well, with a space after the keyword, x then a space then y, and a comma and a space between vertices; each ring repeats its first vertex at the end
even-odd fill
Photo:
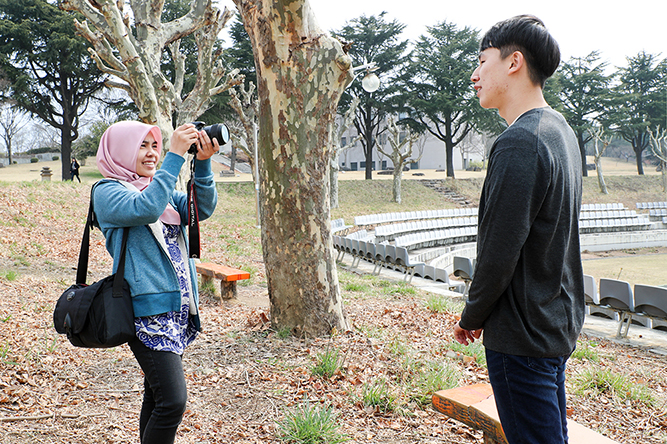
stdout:
MULTIPOLYGON (((441 390, 433 394, 432 403, 440 413, 484 432, 484 444, 507 444, 491 385, 441 390)), ((567 430, 570 444, 618 444, 571 419, 567 420, 567 430)))

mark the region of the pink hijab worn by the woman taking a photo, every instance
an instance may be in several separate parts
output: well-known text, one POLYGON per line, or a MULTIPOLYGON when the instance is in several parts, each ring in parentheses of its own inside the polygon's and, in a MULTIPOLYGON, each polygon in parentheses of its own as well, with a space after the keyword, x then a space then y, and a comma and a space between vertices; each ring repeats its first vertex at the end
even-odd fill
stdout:
MULTIPOLYGON (((97 168, 108 179, 128 182, 140 191, 151 183, 152 177, 137 174, 139 148, 148 133, 157 141, 158 158, 162 155, 162 133, 155 125, 141 122, 117 122, 111 125, 100 139, 97 150, 97 168)), ((160 220, 170 225, 180 225, 181 217, 171 204, 160 216, 160 220)))

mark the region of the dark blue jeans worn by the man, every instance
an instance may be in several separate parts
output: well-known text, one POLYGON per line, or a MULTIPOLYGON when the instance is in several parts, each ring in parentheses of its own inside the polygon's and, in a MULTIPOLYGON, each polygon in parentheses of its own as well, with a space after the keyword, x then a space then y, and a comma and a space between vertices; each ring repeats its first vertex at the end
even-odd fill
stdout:
POLYGON ((489 380, 509 444, 568 443, 568 358, 529 358, 486 349, 489 380))

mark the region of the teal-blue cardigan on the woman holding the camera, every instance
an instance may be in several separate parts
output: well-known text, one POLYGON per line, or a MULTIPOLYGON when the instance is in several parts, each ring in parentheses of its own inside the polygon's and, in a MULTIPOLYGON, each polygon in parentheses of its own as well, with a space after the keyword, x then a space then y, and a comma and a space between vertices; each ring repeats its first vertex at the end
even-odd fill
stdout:
MULTIPOLYGON (((136 317, 181 310, 176 271, 148 224, 156 222, 166 206, 171 204, 181 215, 181 230, 186 233, 187 195, 174 191, 184 162, 183 157, 167 153, 150 185, 141 193, 128 190, 113 180, 102 180, 93 190, 95 216, 106 238, 107 251, 114 259, 114 272, 118 268, 123 228, 130 227, 125 279, 130 286, 136 317)), ((194 177, 201 221, 213 214, 218 200, 211 161, 195 161, 194 177)), ((185 242, 187 247, 187 236, 185 242)), ((198 304, 197 272, 194 260, 189 262, 194 300, 198 304)), ((195 324, 199 329, 198 317, 195 324)))

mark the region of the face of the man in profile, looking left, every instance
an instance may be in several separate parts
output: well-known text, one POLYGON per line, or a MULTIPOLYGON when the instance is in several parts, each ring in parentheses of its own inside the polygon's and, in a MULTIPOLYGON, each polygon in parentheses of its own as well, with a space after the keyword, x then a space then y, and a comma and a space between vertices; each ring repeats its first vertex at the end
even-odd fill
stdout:
POLYGON ((479 66, 472 73, 473 82, 479 104, 482 108, 499 108, 508 90, 507 73, 511 57, 502 59, 500 50, 487 48, 479 53, 479 66))

